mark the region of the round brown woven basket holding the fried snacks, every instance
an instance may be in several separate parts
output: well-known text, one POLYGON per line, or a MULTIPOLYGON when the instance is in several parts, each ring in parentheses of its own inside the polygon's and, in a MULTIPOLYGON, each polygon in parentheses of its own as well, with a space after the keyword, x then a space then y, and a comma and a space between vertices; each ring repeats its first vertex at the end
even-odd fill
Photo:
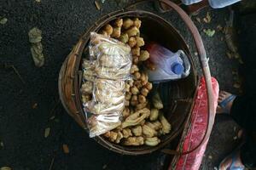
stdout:
MULTIPOLYGON (((207 94, 209 105, 209 120, 207 135, 211 133, 212 129, 212 85, 209 67, 207 65, 207 57, 203 47, 201 37, 195 28, 189 16, 183 12, 175 3, 166 0, 160 0, 162 3, 172 7, 184 20, 185 24, 189 27, 194 39, 198 54, 201 59, 201 68, 207 82, 207 94)), ((98 20, 94 26, 91 26, 84 35, 79 39, 79 42, 73 48, 72 52, 67 56, 59 75, 59 94, 61 103, 65 107, 67 113, 79 123, 79 126, 86 128, 86 117, 83 110, 81 96, 79 89, 82 83, 82 68, 81 61, 82 55, 90 42, 90 32, 99 31, 102 26, 105 26, 110 21, 118 18, 137 17, 142 20, 141 32, 143 37, 149 41, 159 42, 165 47, 170 48, 172 51, 182 49, 188 56, 191 56, 186 42, 177 30, 166 20, 160 16, 143 11, 143 10, 120 10, 112 14, 108 14, 98 20)), ((172 124, 172 132, 160 138, 161 142, 157 146, 123 146, 120 144, 113 144, 108 139, 102 136, 97 136, 94 139, 102 146, 113 150, 120 154, 125 155, 142 155, 159 150, 169 144, 178 134, 183 132, 184 124, 190 116, 192 107, 195 101, 195 93, 197 87, 197 76, 193 59, 189 58, 191 63, 191 71, 189 77, 174 82, 166 82, 160 84, 160 95, 164 103, 164 114, 169 122, 172 124)), ((204 138, 205 139, 205 138, 204 138)))

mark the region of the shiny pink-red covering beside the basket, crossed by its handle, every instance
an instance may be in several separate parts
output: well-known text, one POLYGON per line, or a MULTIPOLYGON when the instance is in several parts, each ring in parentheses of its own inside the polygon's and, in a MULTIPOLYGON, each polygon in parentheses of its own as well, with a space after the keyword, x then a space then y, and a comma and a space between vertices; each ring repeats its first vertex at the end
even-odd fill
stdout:
MULTIPOLYGON (((212 77, 212 88, 214 95, 214 107, 218 105, 218 82, 212 77)), ((214 113, 215 114, 215 113, 214 113)), ((201 142, 207 128, 207 90, 203 78, 201 78, 200 87, 198 89, 195 105, 192 112, 191 124, 188 133, 181 140, 183 151, 194 149, 201 142)), ((177 160, 175 170, 197 170, 201 165, 201 160, 207 148, 207 142, 201 144, 201 147, 192 153, 180 156, 177 160)), ((173 170, 170 165, 169 170, 173 170)))

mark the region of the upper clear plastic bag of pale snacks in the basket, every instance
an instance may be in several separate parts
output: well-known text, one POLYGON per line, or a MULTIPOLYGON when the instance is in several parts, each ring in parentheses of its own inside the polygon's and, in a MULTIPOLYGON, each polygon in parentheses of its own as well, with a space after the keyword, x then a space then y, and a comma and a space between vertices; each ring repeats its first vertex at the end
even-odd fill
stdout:
POLYGON ((94 60, 96 77, 125 80, 130 77, 131 48, 111 37, 90 33, 90 60, 94 60))

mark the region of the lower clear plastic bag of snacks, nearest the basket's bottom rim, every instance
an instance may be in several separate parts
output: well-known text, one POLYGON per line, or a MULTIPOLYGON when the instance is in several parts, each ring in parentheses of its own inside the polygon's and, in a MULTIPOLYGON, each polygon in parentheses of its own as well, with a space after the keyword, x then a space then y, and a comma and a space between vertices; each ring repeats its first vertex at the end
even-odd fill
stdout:
POLYGON ((118 127, 125 107, 125 81, 96 78, 93 99, 85 107, 90 137, 118 127))

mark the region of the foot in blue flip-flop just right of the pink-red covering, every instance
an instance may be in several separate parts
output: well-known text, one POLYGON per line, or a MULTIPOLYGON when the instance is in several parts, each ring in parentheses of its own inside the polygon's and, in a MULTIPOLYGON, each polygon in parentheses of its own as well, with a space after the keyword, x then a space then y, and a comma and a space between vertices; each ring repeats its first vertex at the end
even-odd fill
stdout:
POLYGON ((230 109, 233 105, 233 101, 236 99, 236 95, 230 94, 225 91, 220 91, 218 94, 218 106, 216 112, 230 113, 230 109))

